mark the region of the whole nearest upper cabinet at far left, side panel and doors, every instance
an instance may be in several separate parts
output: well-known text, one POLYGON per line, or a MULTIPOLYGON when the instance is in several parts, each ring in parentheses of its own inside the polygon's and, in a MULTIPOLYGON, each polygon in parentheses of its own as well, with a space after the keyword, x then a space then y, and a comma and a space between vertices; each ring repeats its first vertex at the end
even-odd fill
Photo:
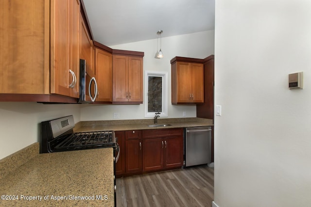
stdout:
POLYGON ((1 0, 0 100, 76 102, 79 15, 80 0, 1 0))

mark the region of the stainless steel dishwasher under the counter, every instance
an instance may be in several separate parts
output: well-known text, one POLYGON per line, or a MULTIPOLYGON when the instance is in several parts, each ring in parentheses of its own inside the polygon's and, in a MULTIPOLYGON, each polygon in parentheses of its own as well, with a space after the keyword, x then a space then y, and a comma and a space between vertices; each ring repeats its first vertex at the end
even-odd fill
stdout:
POLYGON ((185 166, 211 162, 211 127, 186 128, 185 166))

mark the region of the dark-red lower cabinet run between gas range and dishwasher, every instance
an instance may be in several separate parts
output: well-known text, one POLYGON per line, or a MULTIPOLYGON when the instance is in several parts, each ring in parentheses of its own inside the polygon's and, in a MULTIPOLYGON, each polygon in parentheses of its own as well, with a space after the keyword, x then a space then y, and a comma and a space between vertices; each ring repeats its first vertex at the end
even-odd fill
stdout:
POLYGON ((183 132, 183 128, 116 131, 119 145, 122 144, 121 137, 125 136, 124 150, 121 149, 124 156, 121 154, 117 162, 117 175, 141 174, 183 166, 183 132))

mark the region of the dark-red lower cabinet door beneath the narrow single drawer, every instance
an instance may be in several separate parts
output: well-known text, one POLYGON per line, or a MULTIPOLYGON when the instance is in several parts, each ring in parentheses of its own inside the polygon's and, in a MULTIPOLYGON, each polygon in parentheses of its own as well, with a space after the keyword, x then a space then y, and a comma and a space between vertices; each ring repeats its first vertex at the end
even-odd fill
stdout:
POLYGON ((125 141, 125 173, 141 172, 141 148, 141 139, 125 141))

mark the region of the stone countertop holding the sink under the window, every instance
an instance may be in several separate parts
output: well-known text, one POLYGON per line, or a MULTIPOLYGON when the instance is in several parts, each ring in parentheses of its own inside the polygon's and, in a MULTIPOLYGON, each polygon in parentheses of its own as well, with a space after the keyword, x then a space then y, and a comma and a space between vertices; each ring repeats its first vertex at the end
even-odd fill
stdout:
POLYGON ((136 120, 112 120, 112 121, 83 121, 76 125, 75 132, 83 131, 126 131, 142 129, 159 129, 159 128, 184 128, 184 127, 207 127, 213 126, 212 119, 203 118, 158 118, 158 124, 170 124, 167 127, 148 127, 153 125, 153 119, 136 119, 136 120))

